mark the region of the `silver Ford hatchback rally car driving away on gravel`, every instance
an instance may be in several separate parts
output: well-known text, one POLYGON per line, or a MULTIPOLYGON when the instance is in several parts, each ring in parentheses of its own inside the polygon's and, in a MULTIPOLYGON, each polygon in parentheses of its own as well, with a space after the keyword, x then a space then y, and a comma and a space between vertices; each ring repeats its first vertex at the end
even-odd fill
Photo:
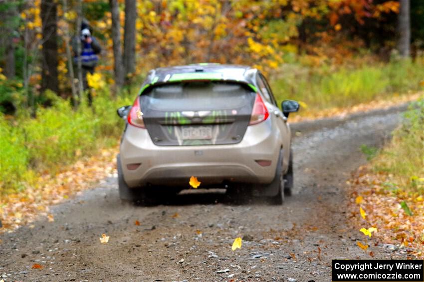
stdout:
POLYGON ((229 193, 291 194, 291 133, 296 101, 281 108, 259 70, 242 65, 194 64, 151 70, 126 120, 117 157, 123 200, 152 200, 189 188, 222 186, 229 193))

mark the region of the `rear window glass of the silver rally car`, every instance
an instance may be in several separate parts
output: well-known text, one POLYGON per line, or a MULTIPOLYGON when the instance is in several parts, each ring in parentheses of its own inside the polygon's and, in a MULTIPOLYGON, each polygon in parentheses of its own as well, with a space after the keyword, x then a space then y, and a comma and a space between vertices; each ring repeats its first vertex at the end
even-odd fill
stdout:
POLYGON ((142 108, 185 111, 239 108, 251 103, 252 90, 243 84, 202 81, 159 85, 141 96, 142 108))

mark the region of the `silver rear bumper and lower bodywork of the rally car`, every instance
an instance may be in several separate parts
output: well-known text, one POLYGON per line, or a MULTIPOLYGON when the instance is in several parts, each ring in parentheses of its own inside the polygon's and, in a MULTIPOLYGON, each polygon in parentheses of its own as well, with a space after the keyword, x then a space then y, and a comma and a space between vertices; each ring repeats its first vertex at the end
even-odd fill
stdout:
POLYGON ((191 176, 204 185, 224 181, 270 183, 275 175, 281 138, 269 120, 248 126, 243 140, 231 145, 157 146, 146 129, 128 126, 120 147, 125 182, 129 187, 188 185, 191 176), (255 160, 271 160, 262 167, 255 160), (128 164, 141 163, 135 170, 128 164))

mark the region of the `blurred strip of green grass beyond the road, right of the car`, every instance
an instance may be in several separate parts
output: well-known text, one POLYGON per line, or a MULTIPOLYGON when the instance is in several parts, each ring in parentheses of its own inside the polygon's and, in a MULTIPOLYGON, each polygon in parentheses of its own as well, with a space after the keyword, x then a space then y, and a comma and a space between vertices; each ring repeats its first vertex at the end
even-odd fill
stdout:
POLYGON ((322 66, 316 69, 286 64, 271 80, 278 102, 293 99, 306 103, 309 110, 349 107, 394 93, 423 89, 424 60, 392 60, 363 66, 322 66))

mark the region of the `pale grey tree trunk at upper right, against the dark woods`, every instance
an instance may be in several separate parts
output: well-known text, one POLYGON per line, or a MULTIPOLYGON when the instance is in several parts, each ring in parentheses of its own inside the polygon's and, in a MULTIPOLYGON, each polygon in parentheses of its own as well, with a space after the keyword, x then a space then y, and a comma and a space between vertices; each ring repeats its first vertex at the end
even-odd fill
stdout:
POLYGON ((411 45, 410 0, 400 0, 400 4, 398 50, 401 56, 409 57, 411 45))

